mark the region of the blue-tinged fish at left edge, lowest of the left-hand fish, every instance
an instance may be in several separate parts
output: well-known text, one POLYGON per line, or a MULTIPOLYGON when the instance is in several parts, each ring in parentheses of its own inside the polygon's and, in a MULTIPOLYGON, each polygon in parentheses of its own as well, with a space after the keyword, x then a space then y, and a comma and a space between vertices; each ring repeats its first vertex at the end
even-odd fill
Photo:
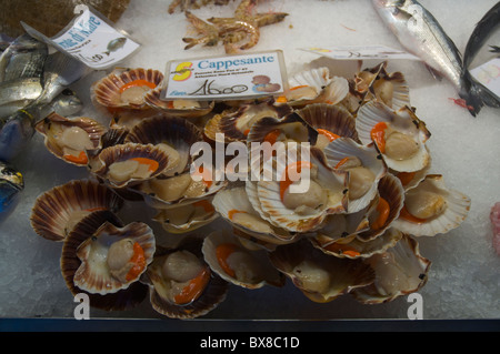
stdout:
POLYGON ((0 223, 11 214, 23 189, 21 172, 0 161, 0 223))

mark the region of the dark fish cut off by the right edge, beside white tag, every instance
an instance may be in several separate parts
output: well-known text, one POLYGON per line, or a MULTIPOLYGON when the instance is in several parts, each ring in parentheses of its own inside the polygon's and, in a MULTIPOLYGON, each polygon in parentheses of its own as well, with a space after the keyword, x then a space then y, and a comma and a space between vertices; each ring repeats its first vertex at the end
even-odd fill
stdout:
MULTIPOLYGON (((489 107, 500 107, 500 98, 494 93, 490 92, 487 88, 484 88, 479 82, 476 82, 470 75, 469 69, 473 60, 478 57, 478 53, 483 48, 484 43, 492 37, 496 36, 498 40, 500 29, 500 1, 497 2, 484 16, 481 20, 476 24, 474 30, 472 31, 466 50, 463 51, 463 81, 468 85, 476 85, 479 91, 481 91, 481 97, 484 104, 489 107)), ((500 48, 496 45, 489 45, 489 54, 500 52, 500 48)), ((479 58, 478 58, 479 59, 479 58)))

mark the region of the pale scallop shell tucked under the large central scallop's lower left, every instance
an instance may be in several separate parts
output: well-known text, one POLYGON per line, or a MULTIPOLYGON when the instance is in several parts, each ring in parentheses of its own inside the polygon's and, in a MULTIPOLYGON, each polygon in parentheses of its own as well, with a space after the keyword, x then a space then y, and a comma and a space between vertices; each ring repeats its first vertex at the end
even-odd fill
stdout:
POLYGON ((252 235, 256 239, 283 244, 294 242, 297 234, 280 229, 262 219, 257 212, 247 195, 246 186, 228 188, 216 194, 212 201, 217 212, 233 227, 252 235), (234 220, 234 213, 244 213, 248 220, 234 220))

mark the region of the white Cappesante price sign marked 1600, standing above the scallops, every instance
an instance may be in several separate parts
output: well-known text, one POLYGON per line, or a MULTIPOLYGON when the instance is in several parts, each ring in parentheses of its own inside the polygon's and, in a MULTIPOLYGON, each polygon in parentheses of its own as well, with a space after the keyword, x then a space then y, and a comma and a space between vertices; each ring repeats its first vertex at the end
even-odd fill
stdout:
POLYGON ((162 100, 231 100, 278 95, 287 89, 280 50, 173 60, 167 63, 162 100))

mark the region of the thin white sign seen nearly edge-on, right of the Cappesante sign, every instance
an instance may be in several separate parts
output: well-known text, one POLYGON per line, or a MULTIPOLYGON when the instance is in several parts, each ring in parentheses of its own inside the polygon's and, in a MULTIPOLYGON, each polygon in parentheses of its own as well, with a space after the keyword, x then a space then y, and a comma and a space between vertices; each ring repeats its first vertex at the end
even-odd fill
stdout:
POLYGON ((340 45, 340 47, 314 47, 301 50, 317 53, 337 60, 364 60, 364 59, 407 59, 420 60, 420 58, 407 51, 384 45, 340 45))

